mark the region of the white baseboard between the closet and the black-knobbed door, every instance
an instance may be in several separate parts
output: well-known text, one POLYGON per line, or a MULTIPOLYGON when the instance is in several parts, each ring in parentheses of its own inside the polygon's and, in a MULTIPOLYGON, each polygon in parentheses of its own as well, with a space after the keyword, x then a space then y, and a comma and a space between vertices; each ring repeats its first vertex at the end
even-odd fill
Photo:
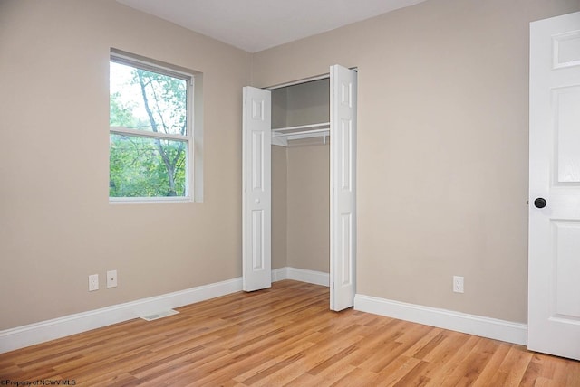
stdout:
POLYGON ((526 324, 359 294, 354 297, 354 309, 507 343, 527 345, 526 324))

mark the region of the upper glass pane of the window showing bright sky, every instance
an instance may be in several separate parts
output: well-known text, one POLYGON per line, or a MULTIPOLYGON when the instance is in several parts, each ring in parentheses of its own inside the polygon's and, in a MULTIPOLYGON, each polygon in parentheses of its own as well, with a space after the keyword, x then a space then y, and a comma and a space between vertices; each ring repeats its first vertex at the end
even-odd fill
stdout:
POLYGON ((110 62, 111 127, 185 136, 188 82, 110 62))

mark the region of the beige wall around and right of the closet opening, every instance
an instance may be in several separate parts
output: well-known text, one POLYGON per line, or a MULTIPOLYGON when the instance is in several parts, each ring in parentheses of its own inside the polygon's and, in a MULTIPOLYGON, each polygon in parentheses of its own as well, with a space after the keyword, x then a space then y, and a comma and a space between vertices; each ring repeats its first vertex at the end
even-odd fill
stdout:
POLYGON ((254 55, 256 86, 359 69, 357 293, 526 322, 529 22, 579 9, 430 0, 254 55))

